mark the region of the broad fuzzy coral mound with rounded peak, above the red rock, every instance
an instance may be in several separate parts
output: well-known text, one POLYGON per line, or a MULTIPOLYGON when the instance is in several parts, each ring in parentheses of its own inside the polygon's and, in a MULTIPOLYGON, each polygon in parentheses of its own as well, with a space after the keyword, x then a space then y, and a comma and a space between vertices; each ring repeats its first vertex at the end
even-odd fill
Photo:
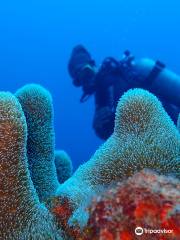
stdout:
POLYGON ((84 209, 92 196, 116 181, 149 168, 180 177, 180 135, 150 92, 133 89, 119 100, 112 136, 62 184, 57 196, 67 198, 75 210, 71 223, 86 222, 84 209))

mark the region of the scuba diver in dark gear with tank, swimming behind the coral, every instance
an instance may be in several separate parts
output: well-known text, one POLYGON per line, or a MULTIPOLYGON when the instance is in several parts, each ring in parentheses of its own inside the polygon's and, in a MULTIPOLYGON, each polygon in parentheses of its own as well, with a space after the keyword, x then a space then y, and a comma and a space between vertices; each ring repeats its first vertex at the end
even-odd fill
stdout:
POLYGON ((160 61, 143 58, 135 61, 129 51, 121 60, 107 57, 98 69, 89 52, 76 46, 68 64, 76 87, 82 87, 81 102, 95 96, 93 128, 101 139, 114 129, 115 110, 119 98, 130 88, 143 88, 156 95, 174 123, 180 112, 180 76, 160 61))

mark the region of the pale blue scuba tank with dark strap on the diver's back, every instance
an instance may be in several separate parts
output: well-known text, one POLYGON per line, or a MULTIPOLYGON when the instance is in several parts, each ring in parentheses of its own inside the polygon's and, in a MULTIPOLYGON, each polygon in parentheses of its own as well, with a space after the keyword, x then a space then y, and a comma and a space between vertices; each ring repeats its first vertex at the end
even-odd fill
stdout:
POLYGON ((141 87, 180 108, 180 76, 170 71, 160 61, 148 58, 132 63, 132 69, 140 76, 141 87))

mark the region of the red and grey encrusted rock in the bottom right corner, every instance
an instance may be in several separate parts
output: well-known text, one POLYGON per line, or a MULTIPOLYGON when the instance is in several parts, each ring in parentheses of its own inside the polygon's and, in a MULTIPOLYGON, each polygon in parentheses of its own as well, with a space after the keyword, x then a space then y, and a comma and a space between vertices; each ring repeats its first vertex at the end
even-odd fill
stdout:
POLYGON ((81 239, 136 240, 137 226, 144 229, 141 240, 180 239, 179 190, 177 180, 141 171, 94 200, 81 239), (150 234, 147 229, 173 232, 150 234))

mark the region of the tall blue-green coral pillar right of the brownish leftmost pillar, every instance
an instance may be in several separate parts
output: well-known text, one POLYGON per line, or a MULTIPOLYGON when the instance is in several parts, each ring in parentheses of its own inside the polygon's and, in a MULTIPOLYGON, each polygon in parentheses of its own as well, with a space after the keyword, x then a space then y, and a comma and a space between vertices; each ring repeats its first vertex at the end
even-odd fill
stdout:
POLYGON ((53 196, 59 186, 54 163, 55 134, 50 93, 37 84, 16 92, 28 128, 27 157, 30 174, 40 201, 53 196))

